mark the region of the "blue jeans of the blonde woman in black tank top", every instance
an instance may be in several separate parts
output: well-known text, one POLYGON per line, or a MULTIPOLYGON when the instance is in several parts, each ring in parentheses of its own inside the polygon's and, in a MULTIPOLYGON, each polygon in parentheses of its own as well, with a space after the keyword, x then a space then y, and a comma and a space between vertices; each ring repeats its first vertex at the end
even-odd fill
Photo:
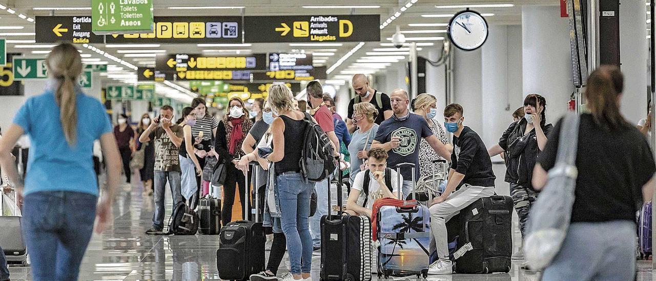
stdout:
POLYGON ((310 273, 312 267, 312 238, 308 228, 310 217, 311 183, 300 173, 282 173, 276 178, 280 193, 280 212, 283 233, 287 238, 290 272, 310 273), (301 265, 301 261, 303 261, 301 265))

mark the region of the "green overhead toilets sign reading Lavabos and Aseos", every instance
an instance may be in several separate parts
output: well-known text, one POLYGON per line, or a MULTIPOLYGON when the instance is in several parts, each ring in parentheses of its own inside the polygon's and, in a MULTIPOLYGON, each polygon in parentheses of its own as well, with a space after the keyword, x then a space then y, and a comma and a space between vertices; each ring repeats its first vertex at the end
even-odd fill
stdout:
POLYGON ((93 33, 153 31, 154 0, 91 0, 93 33))

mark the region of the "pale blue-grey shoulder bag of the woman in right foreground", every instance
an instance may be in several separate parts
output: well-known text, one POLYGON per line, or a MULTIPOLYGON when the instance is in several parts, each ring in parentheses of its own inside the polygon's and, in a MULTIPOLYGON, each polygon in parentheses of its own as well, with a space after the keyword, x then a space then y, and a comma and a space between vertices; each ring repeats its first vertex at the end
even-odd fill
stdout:
POLYGON ((531 269, 548 266, 560 251, 567 235, 574 204, 579 116, 569 113, 562 122, 556 165, 549 171, 548 182, 531 207, 524 240, 524 255, 531 269))

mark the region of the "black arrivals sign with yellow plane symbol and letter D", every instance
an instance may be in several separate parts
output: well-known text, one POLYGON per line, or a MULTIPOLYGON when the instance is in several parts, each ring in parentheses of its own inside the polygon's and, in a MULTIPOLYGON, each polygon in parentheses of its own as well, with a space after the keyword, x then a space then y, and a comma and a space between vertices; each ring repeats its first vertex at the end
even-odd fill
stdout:
POLYGON ((244 41, 361 42, 380 41, 380 15, 245 16, 244 41))

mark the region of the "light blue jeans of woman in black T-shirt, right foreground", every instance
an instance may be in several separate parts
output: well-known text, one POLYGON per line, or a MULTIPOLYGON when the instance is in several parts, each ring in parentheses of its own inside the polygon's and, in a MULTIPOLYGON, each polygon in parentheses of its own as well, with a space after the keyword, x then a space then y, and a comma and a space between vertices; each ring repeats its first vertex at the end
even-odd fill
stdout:
POLYGON ((542 280, 634 280, 636 224, 572 223, 542 280))

